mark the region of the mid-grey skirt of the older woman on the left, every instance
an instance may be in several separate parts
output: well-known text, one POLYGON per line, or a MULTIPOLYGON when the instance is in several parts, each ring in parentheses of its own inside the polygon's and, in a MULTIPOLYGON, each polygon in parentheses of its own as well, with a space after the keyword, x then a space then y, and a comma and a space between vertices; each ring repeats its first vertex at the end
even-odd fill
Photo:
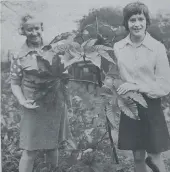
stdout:
MULTIPOLYGON (((24 95, 34 99, 34 90, 24 87, 24 95)), ((58 100, 60 102, 60 100, 58 100)), ((25 150, 55 149, 63 140, 71 138, 67 106, 56 104, 50 108, 39 104, 36 109, 22 107, 20 122, 20 148, 25 150)))

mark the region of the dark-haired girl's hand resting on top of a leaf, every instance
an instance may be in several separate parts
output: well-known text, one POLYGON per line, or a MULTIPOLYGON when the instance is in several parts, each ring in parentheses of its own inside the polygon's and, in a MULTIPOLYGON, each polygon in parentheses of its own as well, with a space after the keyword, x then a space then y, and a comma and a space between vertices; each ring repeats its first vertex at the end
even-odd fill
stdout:
POLYGON ((132 83, 124 83, 119 86, 117 89, 118 94, 126 94, 128 91, 138 91, 139 87, 137 84, 132 84, 132 83))

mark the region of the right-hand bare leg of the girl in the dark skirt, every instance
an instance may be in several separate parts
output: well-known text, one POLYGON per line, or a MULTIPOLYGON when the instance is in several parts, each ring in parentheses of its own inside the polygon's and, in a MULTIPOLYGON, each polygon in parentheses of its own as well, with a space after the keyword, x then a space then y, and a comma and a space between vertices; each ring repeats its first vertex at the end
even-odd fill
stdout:
POLYGON ((161 157, 161 153, 157 153, 157 154, 148 153, 148 156, 152 158, 152 162, 158 167, 160 172, 166 172, 165 164, 161 157))

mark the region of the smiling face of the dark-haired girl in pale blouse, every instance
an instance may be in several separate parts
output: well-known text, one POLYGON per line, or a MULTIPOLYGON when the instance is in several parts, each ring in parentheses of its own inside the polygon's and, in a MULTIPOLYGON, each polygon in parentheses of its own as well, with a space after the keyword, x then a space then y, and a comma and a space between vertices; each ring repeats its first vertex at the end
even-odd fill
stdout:
POLYGON ((130 35, 136 38, 143 37, 146 31, 146 18, 143 13, 132 15, 128 20, 130 35))

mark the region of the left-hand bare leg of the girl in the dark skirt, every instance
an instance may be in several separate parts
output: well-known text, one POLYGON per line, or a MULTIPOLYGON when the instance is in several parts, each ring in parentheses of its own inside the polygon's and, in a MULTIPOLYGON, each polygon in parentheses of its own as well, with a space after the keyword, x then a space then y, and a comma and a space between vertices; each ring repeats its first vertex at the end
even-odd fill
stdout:
POLYGON ((145 164, 145 150, 133 151, 135 172, 147 172, 147 167, 145 164))

